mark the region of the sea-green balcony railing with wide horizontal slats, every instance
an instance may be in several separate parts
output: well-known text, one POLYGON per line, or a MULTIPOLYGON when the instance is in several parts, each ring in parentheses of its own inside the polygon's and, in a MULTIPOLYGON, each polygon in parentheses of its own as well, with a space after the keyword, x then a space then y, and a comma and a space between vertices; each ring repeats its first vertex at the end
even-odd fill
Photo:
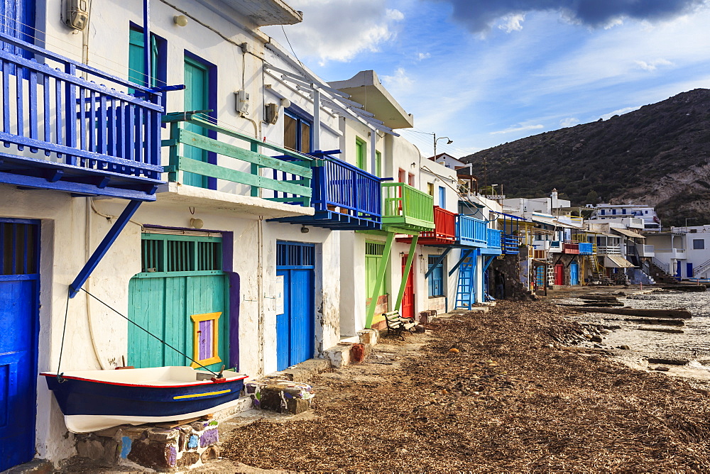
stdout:
POLYGON ((229 130, 190 112, 168 114, 163 122, 170 123, 170 139, 163 140, 163 146, 170 147, 170 164, 165 167, 168 181, 310 206, 311 167, 318 162, 316 158, 229 130), (246 148, 234 144, 235 139, 246 148), (263 155, 260 148, 283 156, 263 155), (274 172, 291 177, 277 180, 266 176, 274 172), (244 187, 218 187, 218 180, 244 187))

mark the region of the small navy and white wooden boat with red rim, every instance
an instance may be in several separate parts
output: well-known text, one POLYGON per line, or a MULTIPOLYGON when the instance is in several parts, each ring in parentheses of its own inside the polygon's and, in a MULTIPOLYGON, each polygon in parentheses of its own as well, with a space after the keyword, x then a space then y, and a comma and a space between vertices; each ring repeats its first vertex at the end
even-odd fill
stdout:
POLYGON ((72 433, 201 417, 236 404, 247 377, 225 370, 222 379, 213 381, 212 373, 190 367, 40 375, 46 377, 72 433))

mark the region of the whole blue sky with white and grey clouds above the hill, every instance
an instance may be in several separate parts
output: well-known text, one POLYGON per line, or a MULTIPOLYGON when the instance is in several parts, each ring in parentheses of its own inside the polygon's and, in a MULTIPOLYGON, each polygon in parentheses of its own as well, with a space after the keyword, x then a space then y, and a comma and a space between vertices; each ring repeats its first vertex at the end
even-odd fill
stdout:
POLYGON ((263 28, 326 81, 375 70, 456 157, 710 89, 710 0, 288 0, 263 28), (288 40, 287 40, 288 38, 288 40))

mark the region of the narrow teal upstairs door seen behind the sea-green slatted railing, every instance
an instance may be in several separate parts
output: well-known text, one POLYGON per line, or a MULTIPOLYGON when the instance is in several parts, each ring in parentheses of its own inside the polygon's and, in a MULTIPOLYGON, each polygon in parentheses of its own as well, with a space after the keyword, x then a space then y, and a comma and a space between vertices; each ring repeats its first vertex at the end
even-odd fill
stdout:
MULTIPOLYGON (((190 57, 185 57, 185 111, 208 110, 210 92, 207 65, 190 57)), ((200 126, 187 123, 185 128, 207 136, 207 131, 200 126)), ((185 153, 187 158, 207 162, 208 154, 206 151, 200 150, 200 148, 185 145, 183 153, 185 153)), ((207 187, 207 177, 184 172, 182 183, 190 186, 207 187)))

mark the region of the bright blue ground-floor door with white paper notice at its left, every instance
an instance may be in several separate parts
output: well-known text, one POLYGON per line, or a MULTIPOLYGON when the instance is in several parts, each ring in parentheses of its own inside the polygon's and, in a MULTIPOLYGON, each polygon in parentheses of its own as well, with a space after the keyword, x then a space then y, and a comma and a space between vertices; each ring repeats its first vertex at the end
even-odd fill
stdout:
POLYGON ((284 370, 314 355, 314 272, 313 244, 276 244, 276 277, 283 280, 283 311, 276 315, 277 370, 284 370))

